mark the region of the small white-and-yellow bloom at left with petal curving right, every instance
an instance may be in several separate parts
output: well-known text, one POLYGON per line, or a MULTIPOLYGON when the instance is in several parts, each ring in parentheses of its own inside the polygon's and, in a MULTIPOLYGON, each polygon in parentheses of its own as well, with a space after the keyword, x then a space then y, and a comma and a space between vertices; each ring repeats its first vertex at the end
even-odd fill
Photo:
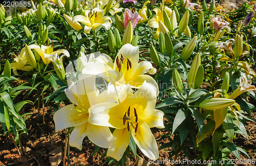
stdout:
POLYGON ((41 48, 37 46, 36 48, 32 48, 36 50, 36 52, 40 55, 42 58, 42 61, 44 61, 45 64, 49 64, 51 62, 50 58, 52 55, 60 55, 65 54, 67 57, 69 57, 69 52, 65 49, 60 49, 57 51, 53 51, 53 43, 48 43, 47 45, 41 45, 41 48))

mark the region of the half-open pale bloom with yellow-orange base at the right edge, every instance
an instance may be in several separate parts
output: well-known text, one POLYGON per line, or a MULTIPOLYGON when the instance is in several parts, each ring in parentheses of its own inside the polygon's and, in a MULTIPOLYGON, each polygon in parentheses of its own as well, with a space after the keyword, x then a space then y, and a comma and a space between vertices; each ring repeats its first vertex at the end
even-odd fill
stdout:
POLYGON ((251 85, 251 80, 248 81, 247 78, 240 77, 239 87, 232 92, 232 94, 229 96, 229 99, 234 99, 243 92, 251 90, 256 90, 255 86, 251 85))

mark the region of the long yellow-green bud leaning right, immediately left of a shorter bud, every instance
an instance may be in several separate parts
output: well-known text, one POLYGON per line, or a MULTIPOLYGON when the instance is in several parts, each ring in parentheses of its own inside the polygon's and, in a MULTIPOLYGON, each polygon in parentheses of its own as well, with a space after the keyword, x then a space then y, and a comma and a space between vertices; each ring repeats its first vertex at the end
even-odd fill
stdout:
POLYGON ((189 69, 188 77, 187 77, 187 87, 188 89, 195 89, 195 79, 197 76, 197 71, 199 66, 201 65, 201 56, 200 53, 197 53, 195 59, 193 60, 191 67, 189 69))

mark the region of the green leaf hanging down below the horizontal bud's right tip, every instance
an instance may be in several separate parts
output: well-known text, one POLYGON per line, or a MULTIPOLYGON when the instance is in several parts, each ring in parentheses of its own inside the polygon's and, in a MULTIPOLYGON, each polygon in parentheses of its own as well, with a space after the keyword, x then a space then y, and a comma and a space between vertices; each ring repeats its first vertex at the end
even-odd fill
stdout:
POLYGON ((233 124, 233 118, 230 113, 226 115, 226 118, 224 122, 222 123, 222 126, 229 138, 229 140, 232 142, 234 138, 234 124, 233 124))

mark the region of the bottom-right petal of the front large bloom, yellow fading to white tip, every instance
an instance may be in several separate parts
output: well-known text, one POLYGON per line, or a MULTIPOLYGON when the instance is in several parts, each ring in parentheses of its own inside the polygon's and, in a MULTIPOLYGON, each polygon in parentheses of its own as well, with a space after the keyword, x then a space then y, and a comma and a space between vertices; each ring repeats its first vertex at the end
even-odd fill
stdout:
POLYGON ((152 160, 158 159, 157 141, 146 123, 139 124, 136 133, 132 130, 132 136, 136 145, 145 156, 152 160))

